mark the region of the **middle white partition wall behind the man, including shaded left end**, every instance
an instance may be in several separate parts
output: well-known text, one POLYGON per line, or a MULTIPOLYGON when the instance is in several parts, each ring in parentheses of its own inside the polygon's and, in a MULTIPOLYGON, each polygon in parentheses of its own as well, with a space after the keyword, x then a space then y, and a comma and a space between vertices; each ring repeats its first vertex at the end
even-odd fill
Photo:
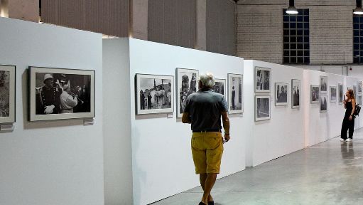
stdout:
MULTIPOLYGON (((105 74, 109 78, 106 80, 105 77, 104 89, 110 90, 106 91, 105 99, 119 99, 117 100, 119 107, 116 110, 105 111, 109 117, 105 126, 114 130, 106 131, 105 127, 104 132, 105 146, 108 144, 104 148, 107 149, 105 157, 108 156, 108 159, 105 159, 107 163, 104 168, 105 195, 110 198, 109 201, 128 204, 128 202, 121 201, 122 197, 116 196, 117 191, 113 191, 112 188, 119 191, 126 190, 127 193, 131 193, 129 189, 133 189, 134 204, 150 204, 199 186, 199 177, 195 174, 190 149, 192 134, 190 125, 183 124, 180 118, 177 119, 176 105, 173 115, 136 115, 135 95, 139 96, 139 93, 135 94, 135 74, 173 75, 176 80, 176 68, 190 68, 197 69, 200 73, 212 72, 216 78, 227 80, 227 73, 243 74, 243 59, 132 38, 105 39, 104 55, 106 53, 108 53, 107 55, 118 54, 104 56, 104 70, 109 73, 105 74), (129 70, 126 67, 129 67, 129 70), (128 78, 125 78, 125 75, 128 78), (115 82, 117 76, 120 80, 129 82, 129 86, 124 85, 124 82, 115 82), (131 89, 131 93, 114 92, 115 87, 131 89), (131 113, 122 107, 131 110, 131 113), (131 125, 127 124, 128 120, 131 125), (120 134, 120 132, 122 133, 120 134), (132 151, 127 148, 130 140, 132 151), (121 155, 124 156, 121 157, 121 155), (115 157, 112 158, 112 156, 115 157), (112 170, 116 168, 118 172, 131 176, 129 169, 125 167, 130 164, 125 156, 132 156, 132 186, 129 185, 126 177, 121 177, 112 170), (117 182, 113 183, 113 179, 117 182)), ((105 103, 115 105, 116 102, 105 103)), ((242 133, 248 130, 248 127, 245 125, 242 115, 230 115, 229 117, 232 140, 224 144, 222 170, 219 177, 245 169, 245 144, 242 133)), ((130 200, 125 194, 123 196, 126 201, 130 200)))

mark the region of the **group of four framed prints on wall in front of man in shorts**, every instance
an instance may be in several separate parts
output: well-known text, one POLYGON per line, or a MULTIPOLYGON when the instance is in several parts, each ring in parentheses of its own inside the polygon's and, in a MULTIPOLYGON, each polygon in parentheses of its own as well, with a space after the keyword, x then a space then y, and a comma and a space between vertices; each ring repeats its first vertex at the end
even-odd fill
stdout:
MULTIPOLYGON (((227 75, 228 85, 226 79, 215 78, 215 85, 212 90, 224 95, 224 98, 227 99, 229 114, 242 113, 243 75, 232 73, 227 75)), ((175 76, 176 88, 174 88, 173 75, 136 73, 136 115, 174 112, 174 102, 176 102, 176 116, 182 117, 185 100, 190 94, 198 91, 199 70, 176 68, 175 76), (174 90, 176 90, 176 95, 174 90), (174 96, 176 97, 175 101, 174 96)))

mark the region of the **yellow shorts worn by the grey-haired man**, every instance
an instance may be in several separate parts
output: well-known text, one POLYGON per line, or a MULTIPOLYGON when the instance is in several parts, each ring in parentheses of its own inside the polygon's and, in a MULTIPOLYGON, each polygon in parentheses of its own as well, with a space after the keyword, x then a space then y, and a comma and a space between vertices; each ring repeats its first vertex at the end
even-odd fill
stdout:
POLYGON ((220 173, 223 138, 220 132, 193 132, 192 155, 195 174, 220 173))

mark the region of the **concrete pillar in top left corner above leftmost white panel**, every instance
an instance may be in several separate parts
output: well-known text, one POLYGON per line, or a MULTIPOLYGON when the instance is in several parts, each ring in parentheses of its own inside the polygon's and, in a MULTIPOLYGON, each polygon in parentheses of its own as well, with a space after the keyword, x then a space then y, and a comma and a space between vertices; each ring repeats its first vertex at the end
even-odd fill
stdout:
POLYGON ((39 21, 39 0, 7 0, 9 1, 9 18, 26 21, 39 21))

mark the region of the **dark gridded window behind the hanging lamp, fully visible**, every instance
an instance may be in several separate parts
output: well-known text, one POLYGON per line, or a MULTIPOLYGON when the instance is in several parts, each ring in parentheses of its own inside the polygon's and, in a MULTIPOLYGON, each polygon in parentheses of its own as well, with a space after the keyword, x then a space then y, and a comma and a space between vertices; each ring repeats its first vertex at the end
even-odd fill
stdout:
POLYGON ((309 48, 309 9, 298 9, 296 15, 283 9, 283 63, 309 64, 309 48))

